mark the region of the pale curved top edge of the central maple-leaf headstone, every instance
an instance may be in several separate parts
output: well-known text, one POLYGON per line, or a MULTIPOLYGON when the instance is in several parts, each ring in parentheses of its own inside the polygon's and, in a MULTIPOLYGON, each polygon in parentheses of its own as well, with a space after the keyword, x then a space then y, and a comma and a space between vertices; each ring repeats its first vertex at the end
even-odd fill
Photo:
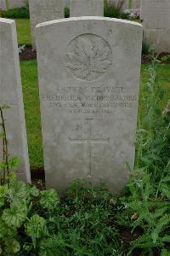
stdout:
POLYGON ((143 28, 142 24, 130 20, 122 20, 122 19, 116 19, 116 18, 107 18, 107 17, 100 17, 100 16, 82 16, 82 17, 71 17, 68 19, 58 19, 58 20, 49 20, 46 22, 42 22, 37 24, 36 28, 42 27, 42 26, 48 26, 48 25, 53 25, 57 23, 63 23, 63 22, 71 22, 71 21, 77 21, 77 20, 105 20, 105 21, 115 21, 117 23, 124 23, 128 25, 133 25, 133 26, 139 26, 143 28))

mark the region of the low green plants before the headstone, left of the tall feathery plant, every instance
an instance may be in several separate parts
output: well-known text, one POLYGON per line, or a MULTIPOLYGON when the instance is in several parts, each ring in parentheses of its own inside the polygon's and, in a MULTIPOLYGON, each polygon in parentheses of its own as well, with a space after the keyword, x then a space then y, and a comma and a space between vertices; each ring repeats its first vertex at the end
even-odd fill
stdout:
POLYGON ((2 255, 118 253, 114 205, 105 189, 97 200, 97 190, 79 189, 75 183, 62 200, 54 189, 40 191, 14 177, 9 181, 9 188, 0 187, 2 255))

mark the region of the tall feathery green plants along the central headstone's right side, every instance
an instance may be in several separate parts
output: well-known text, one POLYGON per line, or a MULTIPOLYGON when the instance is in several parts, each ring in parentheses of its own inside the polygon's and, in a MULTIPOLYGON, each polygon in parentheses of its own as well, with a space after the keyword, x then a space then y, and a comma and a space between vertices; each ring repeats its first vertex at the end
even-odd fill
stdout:
MULTIPOLYGON (((132 228, 132 235, 136 236, 127 255, 137 248, 138 255, 155 250, 162 254, 170 247, 170 123, 161 115, 164 91, 156 67, 154 58, 143 95, 144 116, 139 116, 136 171, 132 172, 127 194, 120 199, 124 205, 122 216, 128 216, 123 225, 132 228)), ((118 218, 118 222, 122 224, 122 219, 118 218)))

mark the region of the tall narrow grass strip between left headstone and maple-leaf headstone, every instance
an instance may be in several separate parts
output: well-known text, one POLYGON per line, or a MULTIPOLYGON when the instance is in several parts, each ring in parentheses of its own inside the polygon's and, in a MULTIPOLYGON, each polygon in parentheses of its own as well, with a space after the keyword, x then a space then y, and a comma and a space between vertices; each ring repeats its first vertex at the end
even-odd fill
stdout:
POLYGON ((31 169, 38 169, 43 167, 43 158, 37 61, 21 61, 20 66, 31 169))

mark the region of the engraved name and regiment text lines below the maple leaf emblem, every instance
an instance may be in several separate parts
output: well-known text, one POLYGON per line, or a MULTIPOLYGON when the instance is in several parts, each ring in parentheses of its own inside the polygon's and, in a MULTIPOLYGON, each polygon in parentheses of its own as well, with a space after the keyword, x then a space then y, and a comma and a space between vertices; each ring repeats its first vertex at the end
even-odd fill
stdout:
POLYGON ((46 108, 65 109, 73 114, 111 114, 116 108, 133 108, 138 96, 122 87, 65 87, 42 95, 46 108))

